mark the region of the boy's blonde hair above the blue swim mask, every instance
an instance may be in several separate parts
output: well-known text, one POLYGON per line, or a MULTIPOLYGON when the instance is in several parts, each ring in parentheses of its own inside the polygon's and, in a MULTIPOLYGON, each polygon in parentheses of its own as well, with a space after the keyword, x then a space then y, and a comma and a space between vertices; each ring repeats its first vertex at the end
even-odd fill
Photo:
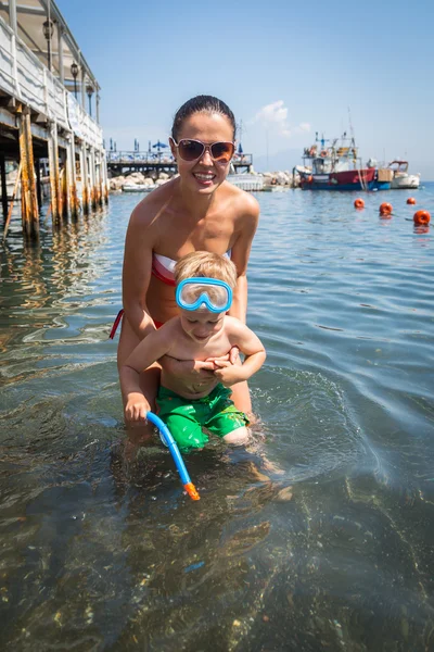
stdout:
POLYGON ((224 280, 233 290, 237 285, 237 267, 231 260, 219 253, 193 251, 183 255, 175 265, 175 280, 178 285, 186 278, 203 276, 224 280))

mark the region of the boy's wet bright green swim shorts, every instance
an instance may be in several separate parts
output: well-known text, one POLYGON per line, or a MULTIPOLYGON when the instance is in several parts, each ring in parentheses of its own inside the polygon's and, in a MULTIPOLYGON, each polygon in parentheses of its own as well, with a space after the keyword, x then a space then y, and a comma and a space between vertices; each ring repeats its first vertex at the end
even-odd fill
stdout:
POLYGON ((156 398, 158 416, 167 425, 180 450, 203 448, 208 437, 202 428, 225 437, 248 424, 248 418, 237 410, 229 398, 231 393, 220 383, 207 397, 192 400, 159 387, 156 398))

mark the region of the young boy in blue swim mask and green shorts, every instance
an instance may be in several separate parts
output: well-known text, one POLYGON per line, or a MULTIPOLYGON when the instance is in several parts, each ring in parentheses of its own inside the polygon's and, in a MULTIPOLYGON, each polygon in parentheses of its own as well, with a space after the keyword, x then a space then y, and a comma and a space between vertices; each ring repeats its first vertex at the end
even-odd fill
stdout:
POLYGON ((155 361, 164 355, 178 360, 218 359, 237 346, 245 355, 243 364, 217 360, 214 371, 196 383, 191 376, 175 376, 163 368, 156 403, 158 416, 181 450, 205 446, 208 437, 202 427, 228 443, 244 443, 248 419, 230 400, 228 388, 256 373, 266 352, 247 326, 226 314, 237 285, 235 265, 226 256, 196 251, 177 262, 175 279, 179 316, 148 335, 120 368, 127 392, 126 417, 145 418, 150 405, 140 389, 139 375, 155 361))

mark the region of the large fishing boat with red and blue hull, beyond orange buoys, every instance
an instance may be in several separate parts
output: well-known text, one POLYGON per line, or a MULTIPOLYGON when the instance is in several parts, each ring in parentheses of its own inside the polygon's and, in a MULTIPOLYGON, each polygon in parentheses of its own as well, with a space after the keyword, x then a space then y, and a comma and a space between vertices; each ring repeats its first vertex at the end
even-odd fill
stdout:
POLYGON ((379 190, 391 187, 390 181, 379 180, 375 167, 362 167, 355 139, 347 137, 346 131, 332 140, 318 138, 317 131, 315 145, 303 152, 303 166, 294 168, 303 190, 379 190))

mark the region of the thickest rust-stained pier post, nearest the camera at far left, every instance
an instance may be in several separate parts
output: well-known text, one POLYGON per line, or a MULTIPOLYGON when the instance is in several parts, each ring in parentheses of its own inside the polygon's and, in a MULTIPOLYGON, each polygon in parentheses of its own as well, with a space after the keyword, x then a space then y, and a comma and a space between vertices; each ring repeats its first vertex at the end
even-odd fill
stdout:
POLYGON ((22 162, 21 195, 23 230, 29 238, 38 238, 39 209, 36 195, 30 113, 28 110, 23 111, 20 115, 20 158, 22 162))

